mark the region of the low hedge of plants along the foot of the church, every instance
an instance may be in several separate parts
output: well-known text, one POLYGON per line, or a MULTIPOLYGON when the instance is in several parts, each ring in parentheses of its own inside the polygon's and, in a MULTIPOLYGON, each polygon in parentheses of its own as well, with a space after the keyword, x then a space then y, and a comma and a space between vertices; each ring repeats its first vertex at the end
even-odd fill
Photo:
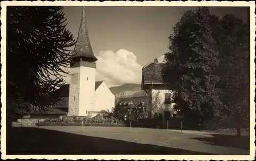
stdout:
POLYGON ((45 119, 42 124, 124 124, 117 118, 88 118, 88 117, 62 117, 59 119, 45 119))

